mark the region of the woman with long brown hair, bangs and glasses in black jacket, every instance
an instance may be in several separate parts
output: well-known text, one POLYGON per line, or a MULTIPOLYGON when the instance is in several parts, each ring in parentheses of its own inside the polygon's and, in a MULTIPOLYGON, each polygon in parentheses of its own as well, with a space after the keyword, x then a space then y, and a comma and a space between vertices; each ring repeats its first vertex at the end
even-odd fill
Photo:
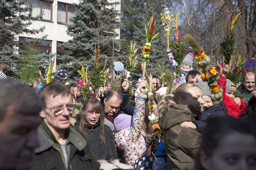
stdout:
POLYGON ((102 106, 97 98, 89 98, 80 109, 79 126, 85 135, 90 152, 95 160, 118 159, 114 136, 109 126, 104 125, 102 106))

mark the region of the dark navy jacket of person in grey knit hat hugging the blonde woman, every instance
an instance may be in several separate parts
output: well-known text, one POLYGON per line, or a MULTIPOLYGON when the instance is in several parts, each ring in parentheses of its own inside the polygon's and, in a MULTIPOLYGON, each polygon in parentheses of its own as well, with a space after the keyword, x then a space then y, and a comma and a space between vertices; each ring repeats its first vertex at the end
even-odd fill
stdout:
MULTIPOLYGON (((226 105, 224 103, 223 105, 225 106, 226 112, 228 112, 226 105)), ((197 126, 197 132, 202 132, 206 120, 212 116, 226 116, 221 104, 215 104, 211 107, 205 108, 205 110, 201 112, 201 115, 195 121, 193 121, 193 123, 195 123, 195 125, 197 126)))

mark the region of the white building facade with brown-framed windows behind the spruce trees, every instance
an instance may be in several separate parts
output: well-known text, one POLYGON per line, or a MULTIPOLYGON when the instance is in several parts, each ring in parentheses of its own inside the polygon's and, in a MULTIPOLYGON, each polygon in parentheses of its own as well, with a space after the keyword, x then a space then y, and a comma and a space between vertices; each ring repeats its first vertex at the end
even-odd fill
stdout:
MULTIPOLYGON (((120 0, 111 0, 111 2, 113 1, 119 2, 115 8, 120 12, 120 0)), ((72 3, 79 3, 79 0, 28 0, 26 4, 27 6, 34 6, 33 10, 30 11, 32 16, 38 16, 43 12, 42 19, 34 21, 28 29, 39 29, 41 27, 45 27, 45 29, 40 35, 22 35, 22 37, 41 38, 47 35, 47 38, 41 44, 34 46, 38 47, 40 52, 55 54, 53 71, 58 69, 56 54, 65 54, 65 51, 59 45, 72 39, 67 35, 67 26, 65 25, 70 23, 69 19, 74 15, 75 7, 72 3)), ((115 32, 120 39, 120 29, 116 29, 115 32)))

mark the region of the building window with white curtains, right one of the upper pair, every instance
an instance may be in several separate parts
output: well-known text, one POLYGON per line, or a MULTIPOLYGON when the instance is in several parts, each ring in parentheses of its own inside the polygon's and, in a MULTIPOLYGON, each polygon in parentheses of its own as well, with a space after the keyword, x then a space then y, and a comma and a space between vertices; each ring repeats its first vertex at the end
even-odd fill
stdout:
POLYGON ((58 2, 58 22, 70 24, 70 18, 74 16, 75 6, 58 2))

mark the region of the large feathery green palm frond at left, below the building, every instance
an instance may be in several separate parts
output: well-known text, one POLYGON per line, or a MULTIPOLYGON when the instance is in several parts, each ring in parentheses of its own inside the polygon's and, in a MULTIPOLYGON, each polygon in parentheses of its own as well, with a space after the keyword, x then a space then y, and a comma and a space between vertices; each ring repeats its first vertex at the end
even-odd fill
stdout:
POLYGON ((31 48, 31 44, 27 44, 17 60, 17 71, 14 77, 22 84, 31 85, 31 80, 39 75, 40 58, 38 56, 39 49, 31 48))

